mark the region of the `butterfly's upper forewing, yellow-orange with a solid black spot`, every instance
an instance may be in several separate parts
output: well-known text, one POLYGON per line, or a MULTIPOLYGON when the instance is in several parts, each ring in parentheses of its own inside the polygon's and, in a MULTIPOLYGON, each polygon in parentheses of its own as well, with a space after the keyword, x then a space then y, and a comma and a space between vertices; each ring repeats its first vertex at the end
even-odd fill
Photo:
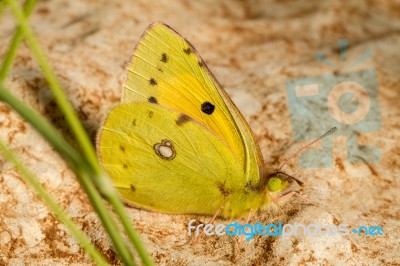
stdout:
POLYGON ((242 165, 243 178, 259 181, 262 155, 251 129, 194 47, 168 26, 150 25, 136 46, 122 103, 157 103, 214 132, 242 165))

